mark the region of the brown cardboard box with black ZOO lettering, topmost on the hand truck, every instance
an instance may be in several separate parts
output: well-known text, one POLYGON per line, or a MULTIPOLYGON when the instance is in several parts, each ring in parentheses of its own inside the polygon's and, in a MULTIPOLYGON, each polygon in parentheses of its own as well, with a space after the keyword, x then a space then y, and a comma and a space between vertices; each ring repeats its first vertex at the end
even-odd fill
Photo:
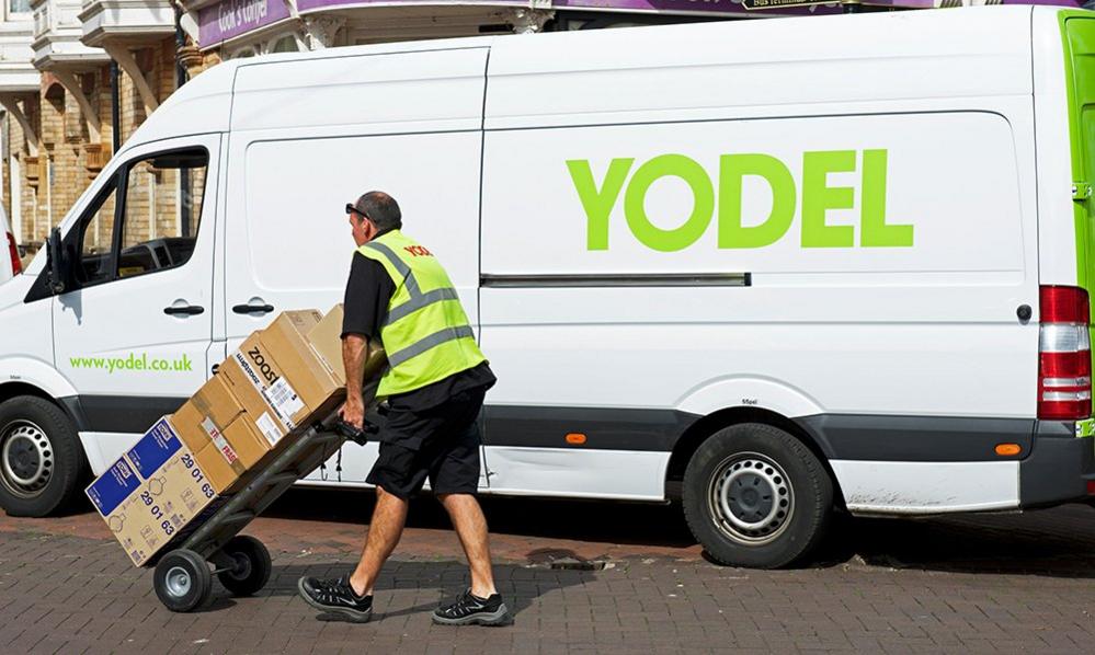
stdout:
POLYGON ((250 416, 260 417, 255 425, 267 438, 274 437, 272 428, 281 438, 323 417, 345 398, 345 387, 305 336, 320 315, 313 310, 283 312, 270 328, 248 337, 220 368, 231 394, 250 416), (263 414, 271 416, 267 424, 260 423, 263 414))

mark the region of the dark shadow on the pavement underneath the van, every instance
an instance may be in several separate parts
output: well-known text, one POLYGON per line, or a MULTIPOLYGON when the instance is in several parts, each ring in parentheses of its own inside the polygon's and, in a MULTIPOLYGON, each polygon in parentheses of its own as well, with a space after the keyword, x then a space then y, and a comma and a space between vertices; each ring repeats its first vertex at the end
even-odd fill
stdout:
MULTIPOLYGON (((482 498, 497 533, 641 547, 696 543, 680 505, 609 501, 482 498)), ((266 514, 297 520, 365 525, 373 493, 293 490, 266 514)), ((429 495, 411 506, 409 527, 447 529, 429 495)), ((532 554, 532 553, 531 553, 532 554)), ((1095 577, 1095 508, 1067 505, 1023 514, 934 518, 853 518, 836 515, 830 533, 802 567, 866 564, 968 573, 1095 577)))

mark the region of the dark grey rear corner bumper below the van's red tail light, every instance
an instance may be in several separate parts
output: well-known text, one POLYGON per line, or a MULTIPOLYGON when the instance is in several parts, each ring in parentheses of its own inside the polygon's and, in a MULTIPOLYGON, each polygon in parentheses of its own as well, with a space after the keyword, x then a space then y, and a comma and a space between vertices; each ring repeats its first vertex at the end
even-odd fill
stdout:
POLYGON ((1095 438, 1077 438, 1075 423, 1039 421, 1030 455, 1019 462, 1019 506, 1048 507, 1095 498, 1095 438))

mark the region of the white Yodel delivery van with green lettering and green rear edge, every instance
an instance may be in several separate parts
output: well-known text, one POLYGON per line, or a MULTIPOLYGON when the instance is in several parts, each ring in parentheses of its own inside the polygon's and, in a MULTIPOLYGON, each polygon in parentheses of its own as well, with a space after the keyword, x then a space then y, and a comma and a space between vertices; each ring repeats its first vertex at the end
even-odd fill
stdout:
POLYGON ((49 514, 337 302, 369 189, 498 374, 484 493, 680 497, 752 566, 834 509, 1085 501, 1093 48, 1095 13, 991 7, 219 65, 0 287, 0 503, 49 514))

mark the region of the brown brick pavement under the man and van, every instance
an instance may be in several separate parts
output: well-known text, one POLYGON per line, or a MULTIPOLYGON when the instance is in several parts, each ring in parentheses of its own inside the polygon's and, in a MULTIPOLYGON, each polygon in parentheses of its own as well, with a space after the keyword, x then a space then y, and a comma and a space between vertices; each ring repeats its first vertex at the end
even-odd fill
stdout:
POLYGON ((1088 507, 846 520, 811 566, 758 572, 707 563, 673 508, 493 501, 497 575, 516 622, 454 629, 430 623, 466 577, 429 501, 379 581, 373 622, 317 621, 296 579, 343 572, 368 509, 339 494, 345 507, 310 520, 317 497, 295 494, 252 526, 274 555, 266 589, 233 599, 218 586, 193 614, 159 605, 149 572, 127 563, 98 517, 0 518, 0 652, 1059 653, 1095 643, 1088 507), (608 567, 549 565, 568 552, 607 554, 608 567))

